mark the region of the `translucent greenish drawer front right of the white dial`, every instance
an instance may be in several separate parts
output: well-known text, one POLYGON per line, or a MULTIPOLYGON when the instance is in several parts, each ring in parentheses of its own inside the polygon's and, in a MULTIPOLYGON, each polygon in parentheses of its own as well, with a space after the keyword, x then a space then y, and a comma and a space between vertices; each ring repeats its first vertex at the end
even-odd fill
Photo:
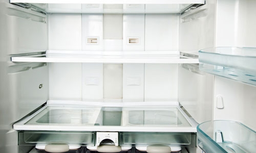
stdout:
POLYGON ((161 144, 174 147, 195 147, 196 139, 196 133, 120 132, 121 146, 149 146, 161 144))

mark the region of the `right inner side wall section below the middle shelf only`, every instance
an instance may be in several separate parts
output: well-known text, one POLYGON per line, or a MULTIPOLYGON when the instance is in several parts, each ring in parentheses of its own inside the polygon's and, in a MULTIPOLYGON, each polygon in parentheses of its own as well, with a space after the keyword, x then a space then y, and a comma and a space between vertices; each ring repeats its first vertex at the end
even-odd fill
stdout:
POLYGON ((211 74, 179 67, 179 101, 198 123, 212 119, 212 81, 211 74))

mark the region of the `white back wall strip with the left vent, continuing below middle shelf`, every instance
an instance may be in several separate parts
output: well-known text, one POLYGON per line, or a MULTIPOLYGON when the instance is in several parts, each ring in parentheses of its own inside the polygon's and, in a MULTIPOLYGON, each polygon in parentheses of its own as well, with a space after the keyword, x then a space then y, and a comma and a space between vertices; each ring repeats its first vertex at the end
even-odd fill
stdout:
MULTIPOLYGON (((103 15, 82 14, 82 50, 103 50, 103 15)), ((103 99, 103 64, 82 63, 82 100, 103 99)))

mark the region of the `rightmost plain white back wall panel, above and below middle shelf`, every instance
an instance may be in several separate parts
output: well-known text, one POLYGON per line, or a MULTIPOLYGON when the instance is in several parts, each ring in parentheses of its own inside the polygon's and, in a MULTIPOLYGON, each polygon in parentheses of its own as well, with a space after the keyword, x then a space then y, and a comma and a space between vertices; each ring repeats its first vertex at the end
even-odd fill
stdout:
MULTIPOLYGON (((179 16, 145 15, 145 52, 178 50, 179 16)), ((178 64, 145 64, 144 100, 178 99, 178 64)))

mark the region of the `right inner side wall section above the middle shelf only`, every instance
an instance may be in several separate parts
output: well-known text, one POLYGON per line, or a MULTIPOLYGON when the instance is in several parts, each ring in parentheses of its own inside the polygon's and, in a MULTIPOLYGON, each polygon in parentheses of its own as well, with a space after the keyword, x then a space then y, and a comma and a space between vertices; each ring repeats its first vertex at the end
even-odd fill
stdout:
POLYGON ((215 0, 208 0, 206 1, 206 5, 181 15, 179 35, 180 52, 197 54, 200 49, 214 46, 215 3, 215 0))

